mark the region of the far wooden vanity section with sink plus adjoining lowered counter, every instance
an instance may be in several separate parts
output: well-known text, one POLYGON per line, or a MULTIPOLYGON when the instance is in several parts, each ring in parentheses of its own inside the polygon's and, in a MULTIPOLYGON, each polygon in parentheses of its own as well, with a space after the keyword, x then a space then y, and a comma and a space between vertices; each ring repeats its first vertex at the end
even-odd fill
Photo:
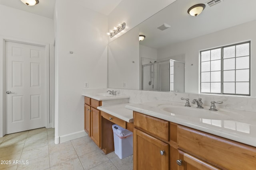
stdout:
MULTIPOLYGON (((102 106, 102 100, 122 100, 130 96, 109 95, 107 93, 84 94, 84 131, 91 137, 96 145, 105 154, 114 151, 114 138, 112 125, 117 124, 125 129, 133 131, 132 111, 124 109, 124 105, 102 106), (121 114, 116 114, 117 108, 121 108, 121 114), (107 111, 108 113, 106 113, 107 111), (109 114, 112 113, 112 114, 109 114)), ((118 111, 117 111, 118 112, 118 111)))

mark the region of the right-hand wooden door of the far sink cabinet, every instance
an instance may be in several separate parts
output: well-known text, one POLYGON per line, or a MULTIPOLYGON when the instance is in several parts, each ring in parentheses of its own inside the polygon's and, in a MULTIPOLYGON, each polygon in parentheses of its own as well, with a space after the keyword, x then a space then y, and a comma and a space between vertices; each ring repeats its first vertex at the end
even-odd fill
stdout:
POLYGON ((91 138, 100 147, 100 111, 91 107, 91 138))

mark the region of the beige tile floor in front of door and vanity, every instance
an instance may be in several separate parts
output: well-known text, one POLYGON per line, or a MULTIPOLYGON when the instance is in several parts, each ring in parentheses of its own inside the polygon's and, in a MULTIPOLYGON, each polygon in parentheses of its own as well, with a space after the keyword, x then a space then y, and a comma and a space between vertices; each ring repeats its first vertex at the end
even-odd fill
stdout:
POLYGON ((133 156, 121 160, 114 152, 105 155, 89 136, 54 144, 52 128, 13 133, 0 138, 0 161, 0 170, 133 169, 133 156))

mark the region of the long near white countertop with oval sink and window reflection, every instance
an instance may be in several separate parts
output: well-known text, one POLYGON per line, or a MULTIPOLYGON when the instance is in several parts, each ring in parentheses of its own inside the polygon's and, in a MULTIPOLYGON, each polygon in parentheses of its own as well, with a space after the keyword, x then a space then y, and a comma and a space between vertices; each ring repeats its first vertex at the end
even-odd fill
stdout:
POLYGON ((209 106, 200 110, 195 105, 184 107, 182 103, 168 101, 129 104, 125 108, 256 147, 256 112, 222 109, 218 106, 218 111, 209 111, 209 106), (172 108, 176 108, 176 111, 170 111, 172 108), (186 113, 180 114, 177 108, 186 113), (201 111, 206 111, 206 114, 201 111))

